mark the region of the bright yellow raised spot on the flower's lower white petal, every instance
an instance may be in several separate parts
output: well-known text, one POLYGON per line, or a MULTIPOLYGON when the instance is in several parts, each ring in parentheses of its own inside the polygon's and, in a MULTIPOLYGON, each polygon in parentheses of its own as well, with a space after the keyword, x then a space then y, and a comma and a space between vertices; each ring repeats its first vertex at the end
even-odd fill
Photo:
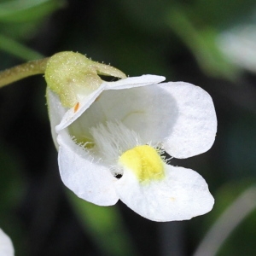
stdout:
POLYGON ((165 177, 164 161, 156 149, 148 145, 125 151, 119 158, 119 164, 134 172, 141 183, 165 177))

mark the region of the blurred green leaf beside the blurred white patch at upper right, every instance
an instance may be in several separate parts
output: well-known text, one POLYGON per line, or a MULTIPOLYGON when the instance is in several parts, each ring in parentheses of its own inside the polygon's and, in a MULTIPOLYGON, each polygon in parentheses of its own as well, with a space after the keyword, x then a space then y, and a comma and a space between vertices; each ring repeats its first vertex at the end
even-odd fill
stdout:
POLYGON ((172 31, 182 39, 195 56, 201 69, 208 75, 236 79, 238 68, 228 61, 216 44, 218 32, 211 27, 197 30, 183 9, 173 7, 167 17, 172 31))

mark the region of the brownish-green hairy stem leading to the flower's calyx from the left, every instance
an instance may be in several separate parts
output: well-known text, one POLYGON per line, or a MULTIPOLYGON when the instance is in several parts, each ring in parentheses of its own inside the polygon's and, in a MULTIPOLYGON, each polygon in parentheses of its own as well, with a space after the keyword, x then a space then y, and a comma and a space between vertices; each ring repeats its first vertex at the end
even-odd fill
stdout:
POLYGON ((28 61, 16 67, 11 67, 0 72, 0 88, 4 85, 11 84, 20 79, 25 79, 32 75, 44 73, 49 58, 37 61, 28 61))

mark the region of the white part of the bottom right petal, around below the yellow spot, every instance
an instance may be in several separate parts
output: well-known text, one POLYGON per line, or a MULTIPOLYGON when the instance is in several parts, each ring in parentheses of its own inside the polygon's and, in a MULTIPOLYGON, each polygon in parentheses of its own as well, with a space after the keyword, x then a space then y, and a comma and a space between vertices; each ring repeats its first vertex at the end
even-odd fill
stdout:
POLYGON ((116 189, 128 207, 154 221, 190 219, 211 211, 214 204, 204 178, 183 167, 166 165, 163 180, 145 184, 125 170, 116 189))

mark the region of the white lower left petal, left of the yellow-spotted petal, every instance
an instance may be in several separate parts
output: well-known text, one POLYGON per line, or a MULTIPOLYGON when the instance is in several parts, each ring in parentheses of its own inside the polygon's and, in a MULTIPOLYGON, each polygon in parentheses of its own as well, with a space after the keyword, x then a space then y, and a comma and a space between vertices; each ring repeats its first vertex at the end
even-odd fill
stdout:
POLYGON ((73 142, 66 130, 57 141, 62 182, 80 198, 99 206, 111 206, 119 197, 113 183, 117 180, 108 167, 96 163, 90 154, 73 142))

